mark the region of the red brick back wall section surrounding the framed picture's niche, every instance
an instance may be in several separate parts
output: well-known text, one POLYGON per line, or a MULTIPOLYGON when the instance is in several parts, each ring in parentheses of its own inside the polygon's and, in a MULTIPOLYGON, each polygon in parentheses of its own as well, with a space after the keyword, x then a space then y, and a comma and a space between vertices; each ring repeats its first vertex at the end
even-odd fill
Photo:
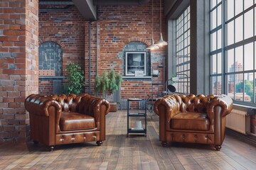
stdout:
MULTIPOLYGON (((159 1, 154 1, 154 40, 159 40, 159 1)), ((164 3, 162 3, 164 6, 164 3)), ((164 12, 164 10, 162 10, 164 12)), ((162 15, 164 16, 164 15, 162 15)), ((91 64, 92 64, 92 91, 95 75, 102 74, 105 70, 113 68, 117 73, 124 75, 124 56, 125 45, 129 42, 142 42, 144 45, 150 45, 152 33, 151 21, 151 1, 143 6, 98 6, 98 21, 92 22, 91 36, 91 64), (127 10, 129 8, 129 10, 127 10), (96 36, 97 35, 97 36, 96 36), (96 48, 97 47, 97 48, 96 48), (98 53, 98 63, 96 54, 98 53)), ((88 63, 88 24, 85 25, 85 73, 89 77, 88 63)), ((166 40, 165 18, 162 18, 162 33, 166 40)), ((163 64, 166 58, 166 47, 149 52, 151 56, 151 67, 157 67, 163 64)), ((160 68, 159 81, 163 82, 163 69, 160 68)), ((86 89, 89 87, 89 81, 86 79, 86 89)), ((85 89, 85 90, 86 90, 85 89)), ((156 94, 154 87, 154 94, 156 94)), ((159 86, 159 91, 163 86, 159 86)), ((125 79, 122 83, 122 98, 146 98, 151 94, 151 81, 125 79)))

